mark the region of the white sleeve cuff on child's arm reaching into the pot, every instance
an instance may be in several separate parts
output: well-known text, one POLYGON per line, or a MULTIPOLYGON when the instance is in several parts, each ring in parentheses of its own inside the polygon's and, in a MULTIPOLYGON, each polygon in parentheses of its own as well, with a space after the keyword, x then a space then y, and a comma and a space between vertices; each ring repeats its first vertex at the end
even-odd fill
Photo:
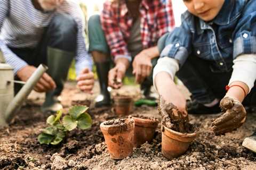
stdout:
POLYGON ((154 67, 154 71, 153 71, 153 85, 154 85, 155 90, 157 91, 156 84, 155 84, 155 78, 158 73, 160 73, 160 72, 169 73, 173 80, 174 75, 178 70, 179 70, 179 63, 174 58, 170 58, 170 57, 159 58, 156 66, 154 67))

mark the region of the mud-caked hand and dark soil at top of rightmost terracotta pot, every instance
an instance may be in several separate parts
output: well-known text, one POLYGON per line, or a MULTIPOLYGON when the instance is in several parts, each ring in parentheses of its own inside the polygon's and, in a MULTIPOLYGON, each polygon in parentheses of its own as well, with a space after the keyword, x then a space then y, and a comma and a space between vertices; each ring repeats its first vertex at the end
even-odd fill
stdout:
POLYGON ((163 99, 158 105, 158 112, 162 115, 162 124, 180 133, 194 133, 195 128, 189 123, 188 115, 178 110, 172 103, 166 104, 163 99))

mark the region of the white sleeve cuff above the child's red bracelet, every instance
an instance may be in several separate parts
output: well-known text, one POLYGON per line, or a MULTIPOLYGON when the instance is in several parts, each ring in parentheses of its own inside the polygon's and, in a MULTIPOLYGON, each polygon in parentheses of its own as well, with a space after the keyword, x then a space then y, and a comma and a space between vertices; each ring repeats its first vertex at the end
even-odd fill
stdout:
POLYGON ((249 87, 250 92, 256 80, 256 55, 243 54, 233 62, 233 72, 228 84, 230 85, 234 81, 244 82, 249 87))

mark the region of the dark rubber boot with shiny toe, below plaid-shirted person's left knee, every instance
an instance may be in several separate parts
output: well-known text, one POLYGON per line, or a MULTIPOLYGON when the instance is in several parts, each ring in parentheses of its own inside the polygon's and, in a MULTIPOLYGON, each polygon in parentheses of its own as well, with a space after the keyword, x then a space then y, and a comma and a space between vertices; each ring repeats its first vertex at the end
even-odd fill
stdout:
POLYGON ((110 94, 108 91, 108 72, 110 70, 110 61, 95 62, 97 75, 100 83, 100 95, 95 99, 95 107, 110 106, 110 94))

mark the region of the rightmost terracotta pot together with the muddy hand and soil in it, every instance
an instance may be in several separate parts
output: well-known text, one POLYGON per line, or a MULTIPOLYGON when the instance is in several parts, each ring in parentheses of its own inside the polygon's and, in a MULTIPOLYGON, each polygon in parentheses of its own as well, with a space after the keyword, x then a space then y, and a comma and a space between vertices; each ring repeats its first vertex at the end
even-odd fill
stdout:
POLYGON ((188 115, 162 100, 158 111, 163 117, 162 154, 168 159, 183 155, 196 138, 195 128, 189 123, 188 115))

